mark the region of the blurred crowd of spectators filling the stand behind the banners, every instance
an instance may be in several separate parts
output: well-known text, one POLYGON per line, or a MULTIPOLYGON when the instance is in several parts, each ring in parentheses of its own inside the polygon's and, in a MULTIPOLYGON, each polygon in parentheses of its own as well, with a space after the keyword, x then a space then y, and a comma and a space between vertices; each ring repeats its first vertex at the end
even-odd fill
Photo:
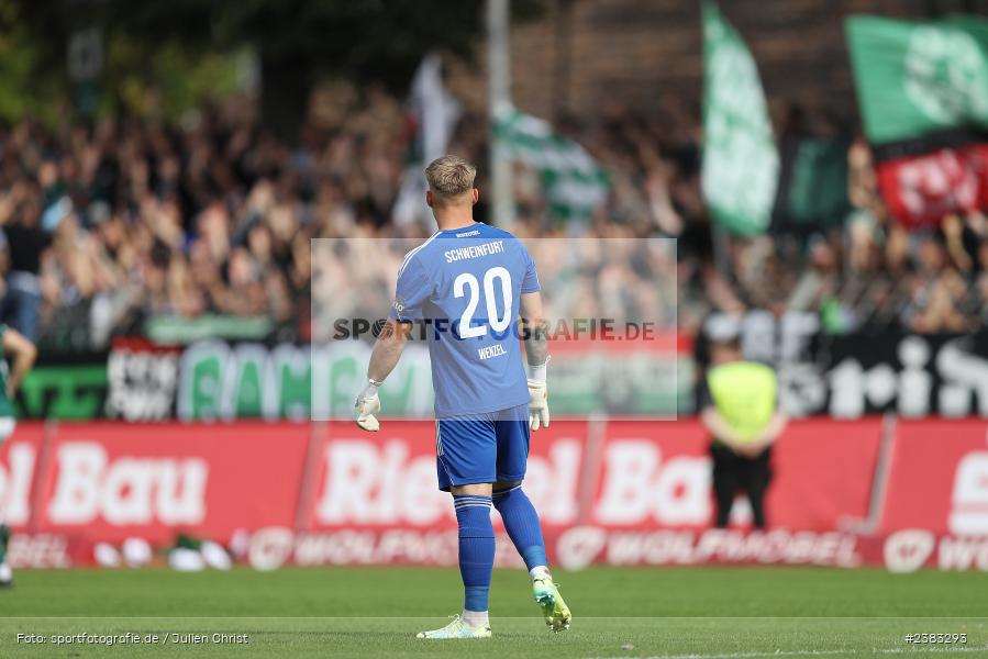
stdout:
MULTIPOLYGON (((234 99, 176 124, 119 119, 51 130, 25 120, 0 129, 3 320, 43 346, 74 348, 141 333, 152 317, 207 314, 264 316, 281 336, 307 338, 310 238, 429 235, 424 224, 391 219, 410 137, 398 101, 371 97, 313 122, 295 148, 259 130, 248 108, 234 99)), ((984 215, 907 233, 887 216, 857 143, 852 212, 834 228, 718 235, 700 197, 698 121, 685 104, 650 118, 609 108, 592 123, 563 120, 560 132, 608 170, 610 199, 585 222, 555 222, 536 174, 519 167, 514 231, 678 238, 678 259, 657 267, 678 276, 685 330, 711 310, 748 308, 819 310, 832 332, 966 332, 988 320, 984 215)), ((484 118, 466 114, 449 146, 481 165, 481 189, 486 134, 484 118)), ((624 298, 646 298, 656 271, 624 267, 585 268, 580 286, 606 292, 620 281, 632 289, 624 298)))

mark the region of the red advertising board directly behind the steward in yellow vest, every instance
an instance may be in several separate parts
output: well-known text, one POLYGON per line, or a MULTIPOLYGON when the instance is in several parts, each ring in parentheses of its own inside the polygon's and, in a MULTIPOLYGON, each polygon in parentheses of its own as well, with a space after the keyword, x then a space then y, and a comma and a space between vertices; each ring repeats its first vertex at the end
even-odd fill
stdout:
POLYGON ((863 561, 857 538, 836 530, 867 514, 880 421, 798 421, 774 449, 767 533, 746 529, 739 500, 731 530, 710 529, 710 439, 695 421, 610 422, 600 450, 590 524, 567 529, 554 557, 570 568, 702 562, 863 561))

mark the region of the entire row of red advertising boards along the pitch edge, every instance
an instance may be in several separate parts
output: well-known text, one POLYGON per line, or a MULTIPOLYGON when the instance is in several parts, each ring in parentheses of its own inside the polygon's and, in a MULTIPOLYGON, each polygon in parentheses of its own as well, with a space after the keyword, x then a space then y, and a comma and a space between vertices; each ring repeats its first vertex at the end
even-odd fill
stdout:
MULTIPOLYGON (((900 421, 885 470, 881 435, 877 417, 792 422, 775 447, 764 533, 747 528, 744 505, 731 529, 710 528, 709 439, 696 420, 554 421, 532 436, 525 491, 551 559, 569 568, 988 570, 988 423, 900 421), (877 530, 843 530, 867 517, 879 472, 877 530)), ((378 434, 344 422, 23 424, 0 447, 0 505, 20 566, 86 562, 97 541, 225 543, 237 529, 259 568, 456 562, 431 422, 389 421, 378 434)), ((498 563, 518 565, 493 520, 498 563)))

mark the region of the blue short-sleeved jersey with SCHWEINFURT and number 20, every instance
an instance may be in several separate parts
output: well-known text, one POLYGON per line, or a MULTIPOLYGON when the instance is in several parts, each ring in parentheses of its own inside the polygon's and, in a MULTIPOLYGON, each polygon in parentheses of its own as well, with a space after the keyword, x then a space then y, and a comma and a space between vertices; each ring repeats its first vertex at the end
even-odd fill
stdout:
POLYGON ((435 414, 449 418, 529 402, 517 326, 535 261, 507 231, 439 231, 404 257, 390 316, 428 324, 435 414))

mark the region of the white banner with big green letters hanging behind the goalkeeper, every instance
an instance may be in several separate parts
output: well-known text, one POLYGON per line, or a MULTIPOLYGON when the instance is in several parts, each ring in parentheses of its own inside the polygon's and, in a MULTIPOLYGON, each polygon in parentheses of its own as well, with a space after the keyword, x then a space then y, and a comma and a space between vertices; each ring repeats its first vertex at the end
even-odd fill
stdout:
MULTIPOLYGON (((349 418, 366 383, 370 346, 229 344, 207 340, 185 349, 174 380, 178 418, 325 421, 349 418)), ((559 354, 553 359, 553 412, 671 416, 689 396, 688 355, 614 351, 559 354), (682 372, 680 372, 682 371, 682 372), (608 387, 633 373, 636 390, 608 387)), ((432 370, 426 347, 406 348, 380 389, 385 416, 430 417, 432 370)))

